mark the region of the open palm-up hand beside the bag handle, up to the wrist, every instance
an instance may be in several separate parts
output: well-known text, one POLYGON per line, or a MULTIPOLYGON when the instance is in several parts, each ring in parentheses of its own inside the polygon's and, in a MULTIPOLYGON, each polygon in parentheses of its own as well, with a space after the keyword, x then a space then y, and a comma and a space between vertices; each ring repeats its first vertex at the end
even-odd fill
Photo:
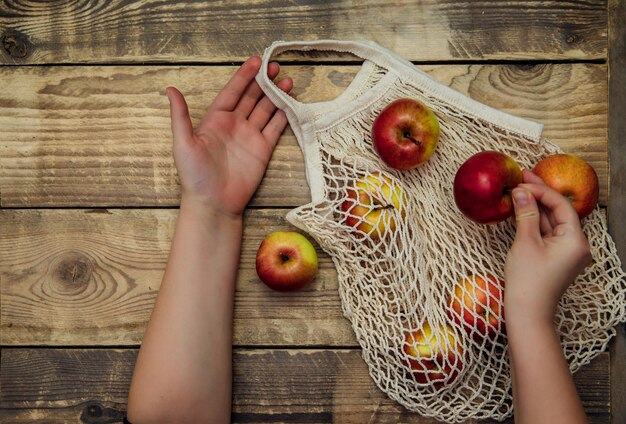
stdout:
MULTIPOLYGON (((261 58, 248 59, 216 96, 194 131, 185 98, 167 88, 174 136, 174 162, 182 186, 181 204, 208 207, 217 213, 240 216, 256 191, 276 142, 287 125, 255 75, 261 58)), ((278 75, 270 63, 268 76, 278 75)), ((291 79, 277 83, 285 92, 291 79)))

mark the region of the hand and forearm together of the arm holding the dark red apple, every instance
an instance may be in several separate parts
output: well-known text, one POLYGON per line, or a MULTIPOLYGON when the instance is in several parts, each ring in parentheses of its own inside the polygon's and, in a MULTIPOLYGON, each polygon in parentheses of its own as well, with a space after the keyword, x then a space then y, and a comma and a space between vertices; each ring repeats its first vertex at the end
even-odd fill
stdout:
POLYGON ((586 423, 554 327, 556 306, 591 261, 569 200, 524 171, 513 190, 517 233, 504 266, 515 422, 586 423))

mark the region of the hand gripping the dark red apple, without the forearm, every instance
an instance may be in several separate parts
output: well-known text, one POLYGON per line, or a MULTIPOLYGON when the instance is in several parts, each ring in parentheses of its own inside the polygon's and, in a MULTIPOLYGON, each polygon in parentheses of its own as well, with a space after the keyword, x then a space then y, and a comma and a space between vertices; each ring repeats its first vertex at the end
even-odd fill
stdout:
POLYGON ((517 233, 505 264, 505 311, 552 323, 567 287, 590 263, 589 243, 570 202, 524 171, 513 190, 517 233))

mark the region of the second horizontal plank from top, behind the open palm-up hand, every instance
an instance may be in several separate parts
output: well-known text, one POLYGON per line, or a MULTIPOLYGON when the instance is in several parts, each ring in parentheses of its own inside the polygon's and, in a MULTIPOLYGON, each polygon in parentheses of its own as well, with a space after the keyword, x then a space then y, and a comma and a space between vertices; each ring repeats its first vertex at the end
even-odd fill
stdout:
MULTIPOLYGON (((304 102, 336 97, 358 68, 288 66, 304 102)), ((421 69, 474 99, 541 121, 545 135, 595 167, 606 202, 607 68, 596 64, 429 65, 421 69)), ((0 205, 177 205, 164 87, 187 94, 193 120, 232 67, 1 68, 0 205)), ((253 206, 310 201, 302 154, 288 129, 253 206)))

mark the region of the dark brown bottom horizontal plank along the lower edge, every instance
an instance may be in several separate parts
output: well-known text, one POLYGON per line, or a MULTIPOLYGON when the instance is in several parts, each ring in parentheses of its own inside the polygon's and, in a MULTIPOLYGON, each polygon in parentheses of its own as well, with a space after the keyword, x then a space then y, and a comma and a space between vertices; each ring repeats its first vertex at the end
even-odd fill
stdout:
MULTIPOLYGON (((135 356, 119 349, 3 349, 0 419, 119 420, 135 356)), ((235 350, 233 364, 233 422, 437 422, 387 398, 359 350, 235 350)), ((592 423, 609 422, 608 373, 603 353, 574 375, 592 423)))

